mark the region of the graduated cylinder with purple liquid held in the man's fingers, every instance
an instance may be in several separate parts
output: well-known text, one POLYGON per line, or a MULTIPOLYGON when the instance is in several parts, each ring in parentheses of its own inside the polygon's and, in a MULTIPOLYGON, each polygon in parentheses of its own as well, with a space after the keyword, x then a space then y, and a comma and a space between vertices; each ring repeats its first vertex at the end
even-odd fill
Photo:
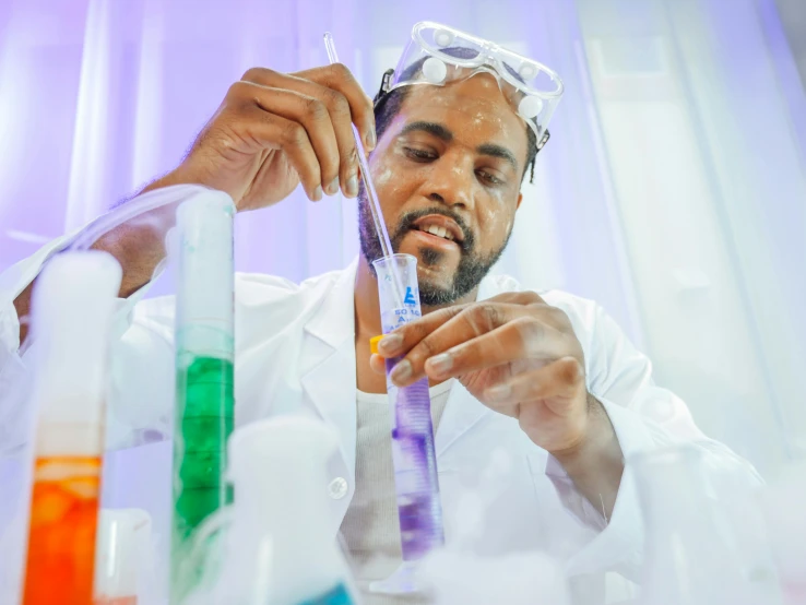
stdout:
MULTIPOLYGON (((392 254, 372 265, 378 277, 383 333, 418 319, 417 259, 392 254)), ((387 377, 399 360, 387 359, 387 377)), ((445 544, 428 378, 405 388, 395 387, 387 378, 387 393, 392 415, 392 463, 403 566, 389 579, 370 584, 370 590, 412 593, 418 592, 414 564, 445 544)))

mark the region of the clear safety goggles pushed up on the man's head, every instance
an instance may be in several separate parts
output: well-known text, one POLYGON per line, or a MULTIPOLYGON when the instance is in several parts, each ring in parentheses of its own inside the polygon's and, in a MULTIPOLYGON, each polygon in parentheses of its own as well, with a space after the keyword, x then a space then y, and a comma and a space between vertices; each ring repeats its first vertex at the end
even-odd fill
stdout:
POLYGON ((447 25, 422 21, 414 26, 398 67, 383 74, 375 102, 401 86, 443 86, 477 73, 496 78, 512 109, 534 131, 540 151, 548 141, 548 120, 562 96, 559 75, 543 63, 447 25))

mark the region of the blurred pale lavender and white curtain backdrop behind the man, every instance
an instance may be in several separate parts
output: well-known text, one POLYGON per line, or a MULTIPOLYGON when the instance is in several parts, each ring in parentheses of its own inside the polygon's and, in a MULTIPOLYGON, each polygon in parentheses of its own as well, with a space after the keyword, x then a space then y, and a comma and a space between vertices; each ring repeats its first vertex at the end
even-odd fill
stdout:
MULTIPOLYGON (((329 29, 371 96, 420 20, 566 83, 499 271, 601 302, 762 475, 806 455, 803 0, 3 0, 0 270, 176 166, 249 67, 325 63, 329 29)), ((295 193, 236 246, 340 269, 355 202, 295 193)))

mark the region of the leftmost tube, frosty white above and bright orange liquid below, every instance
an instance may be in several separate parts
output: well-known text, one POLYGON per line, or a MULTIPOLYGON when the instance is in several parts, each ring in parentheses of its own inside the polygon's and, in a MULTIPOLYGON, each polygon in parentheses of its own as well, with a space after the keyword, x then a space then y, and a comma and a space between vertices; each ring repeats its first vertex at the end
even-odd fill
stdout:
POLYGON ((121 274, 106 252, 68 252, 34 286, 38 420, 23 605, 93 603, 106 355, 121 274))

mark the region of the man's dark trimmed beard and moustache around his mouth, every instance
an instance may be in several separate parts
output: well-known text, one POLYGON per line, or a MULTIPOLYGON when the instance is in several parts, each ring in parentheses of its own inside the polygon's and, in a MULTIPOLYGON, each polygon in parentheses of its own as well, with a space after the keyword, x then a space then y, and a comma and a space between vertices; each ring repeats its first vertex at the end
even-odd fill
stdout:
MULTIPOLYGON (((512 229, 509 230, 507 237, 497 250, 490 254, 481 254, 476 250, 476 238, 464 220, 445 205, 435 205, 407 212, 401 216, 393 233, 390 233, 392 249, 395 252, 400 250, 400 245, 403 241, 403 238, 413 228, 414 223, 429 214, 441 214, 442 216, 448 216, 453 220, 457 225, 459 225, 459 228, 462 229, 463 235, 462 241, 455 241, 460 249, 460 260, 457 271, 453 274, 451 285, 443 287, 432 282, 419 281, 420 305, 426 307, 437 307, 455 302, 478 286, 484 276, 489 273, 489 270, 501 257, 505 248, 507 248, 509 238, 512 235, 512 229)), ((375 274, 372 261, 383 257, 383 249, 381 248, 378 235, 375 232, 375 222, 372 221, 369 201, 364 193, 363 186, 358 195, 358 232, 360 235, 361 253, 375 274)), ((419 249, 419 256, 420 258, 418 260, 423 265, 436 268, 440 262, 442 262, 445 253, 440 250, 423 246, 419 249)))

